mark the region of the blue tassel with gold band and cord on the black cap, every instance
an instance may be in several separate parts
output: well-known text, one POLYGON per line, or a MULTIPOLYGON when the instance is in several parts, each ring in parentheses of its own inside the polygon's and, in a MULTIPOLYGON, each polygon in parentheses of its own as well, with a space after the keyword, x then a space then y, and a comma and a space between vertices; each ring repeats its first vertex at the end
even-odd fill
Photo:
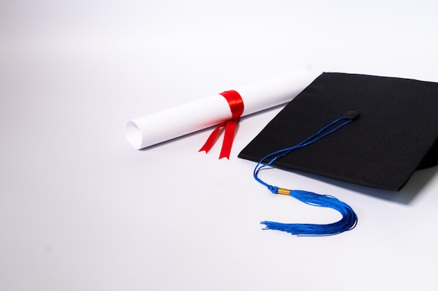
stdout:
POLYGON ((307 145, 320 140, 321 138, 333 133, 338 130, 342 126, 353 121, 353 119, 357 118, 358 114, 351 114, 351 112, 347 112, 344 117, 336 119, 332 121, 332 123, 318 130, 317 133, 311 135, 306 138, 299 144, 296 144, 293 147, 288 147, 285 149, 281 149, 275 151, 274 153, 268 154, 264 156, 259 163, 255 166, 253 176, 254 178, 266 186, 272 193, 281 194, 281 195, 290 195, 291 197, 296 198, 297 200, 304 202, 309 205, 318 206, 318 207, 327 207, 331 209, 335 209, 339 211, 342 215, 340 221, 336 223, 330 224, 309 224, 309 223, 276 223, 273 221, 262 221, 261 224, 266 227, 264 230, 281 230, 283 232, 288 232, 290 234, 294 234, 297 236, 308 236, 308 237, 320 237, 320 236, 329 236, 334 234, 339 234, 341 232, 346 232, 348 230, 353 230, 353 228, 358 223, 358 216, 355 214, 353 209, 348 206, 348 204, 338 200, 336 197, 330 195, 320 195, 313 192, 301 191, 301 190, 289 190, 285 188, 278 188, 277 186, 272 186, 260 179, 258 174, 263 167, 267 167, 274 163, 278 158, 286 156, 290 153, 290 151, 300 148, 306 147, 307 145), (341 124, 339 122, 343 121, 341 124), (336 126, 336 124, 339 124, 336 126), (329 128, 334 127, 329 130, 329 128), (327 131, 326 131, 327 130, 327 131), (263 163, 268 158, 271 158, 267 163, 263 163))

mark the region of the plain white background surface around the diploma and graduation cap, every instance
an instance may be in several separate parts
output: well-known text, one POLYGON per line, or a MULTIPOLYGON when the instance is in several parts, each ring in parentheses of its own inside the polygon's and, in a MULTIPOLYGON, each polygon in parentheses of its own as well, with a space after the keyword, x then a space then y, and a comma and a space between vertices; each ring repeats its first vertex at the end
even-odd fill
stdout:
MULTIPOLYGON (((438 82, 436 1, 0 1, 0 290, 437 290, 437 167, 399 193, 237 158, 281 107, 134 150, 125 124, 297 68, 438 82)), ((160 124, 157 124, 160 126, 160 124)), ((395 161, 396 163, 396 161, 395 161)), ((360 165, 358 165, 360 166, 360 165)))

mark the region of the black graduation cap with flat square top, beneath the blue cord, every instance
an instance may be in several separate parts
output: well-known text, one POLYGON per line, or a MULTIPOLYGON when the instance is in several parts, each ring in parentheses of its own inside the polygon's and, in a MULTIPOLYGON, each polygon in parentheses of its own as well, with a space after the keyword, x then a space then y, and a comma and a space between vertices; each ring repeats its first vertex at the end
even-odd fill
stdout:
POLYGON ((239 158, 258 162, 351 110, 353 122, 272 165, 399 191, 415 170, 438 164, 438 83, 346 73, 317 77, 239 158))

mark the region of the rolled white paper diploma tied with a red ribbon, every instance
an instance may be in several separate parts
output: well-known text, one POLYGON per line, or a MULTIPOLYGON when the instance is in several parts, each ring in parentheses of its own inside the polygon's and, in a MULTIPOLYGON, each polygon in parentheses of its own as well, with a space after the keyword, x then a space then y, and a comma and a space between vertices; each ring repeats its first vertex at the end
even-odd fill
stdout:
MULTIPOLYGON (((245 116, 287 103, 316 78, 308 70, 295 70, 262 82, 234 89, 243 100, 245 116)), ((155 112, 127 123, 126 138, 134 149, 194 133, 232 118, 227 100, 220 94, 155 112)))

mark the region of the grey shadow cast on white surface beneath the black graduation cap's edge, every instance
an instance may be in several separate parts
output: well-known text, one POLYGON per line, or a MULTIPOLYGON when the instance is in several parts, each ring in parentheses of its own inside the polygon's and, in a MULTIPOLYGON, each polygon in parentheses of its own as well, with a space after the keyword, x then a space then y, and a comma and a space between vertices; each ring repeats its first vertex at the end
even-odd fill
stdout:
POLYGON ((333 184, 342 188, 346 188, 351 191, 358 193, 363 193, 365 195, 370 195, 379 199, 388 200, 391 202, 397 202, 400 204, 410 204, 421 192, 421 189, 426 186, 429 181, 438 174, 438 166, 429 167, 423 170, 417 170, 414 172, 412 177, 409 179, 407 184, 400 191, 384 190, 379 188, 372 188, 368 186, 361 186, 358 184, 353 184, 346 181, 341 181, 329 177, 322 177, 318 174, 311 174, 308 172, 301 172, 294 170, 298 174, 311 179, 317 179, 324 181, 327 184, 333 184))

